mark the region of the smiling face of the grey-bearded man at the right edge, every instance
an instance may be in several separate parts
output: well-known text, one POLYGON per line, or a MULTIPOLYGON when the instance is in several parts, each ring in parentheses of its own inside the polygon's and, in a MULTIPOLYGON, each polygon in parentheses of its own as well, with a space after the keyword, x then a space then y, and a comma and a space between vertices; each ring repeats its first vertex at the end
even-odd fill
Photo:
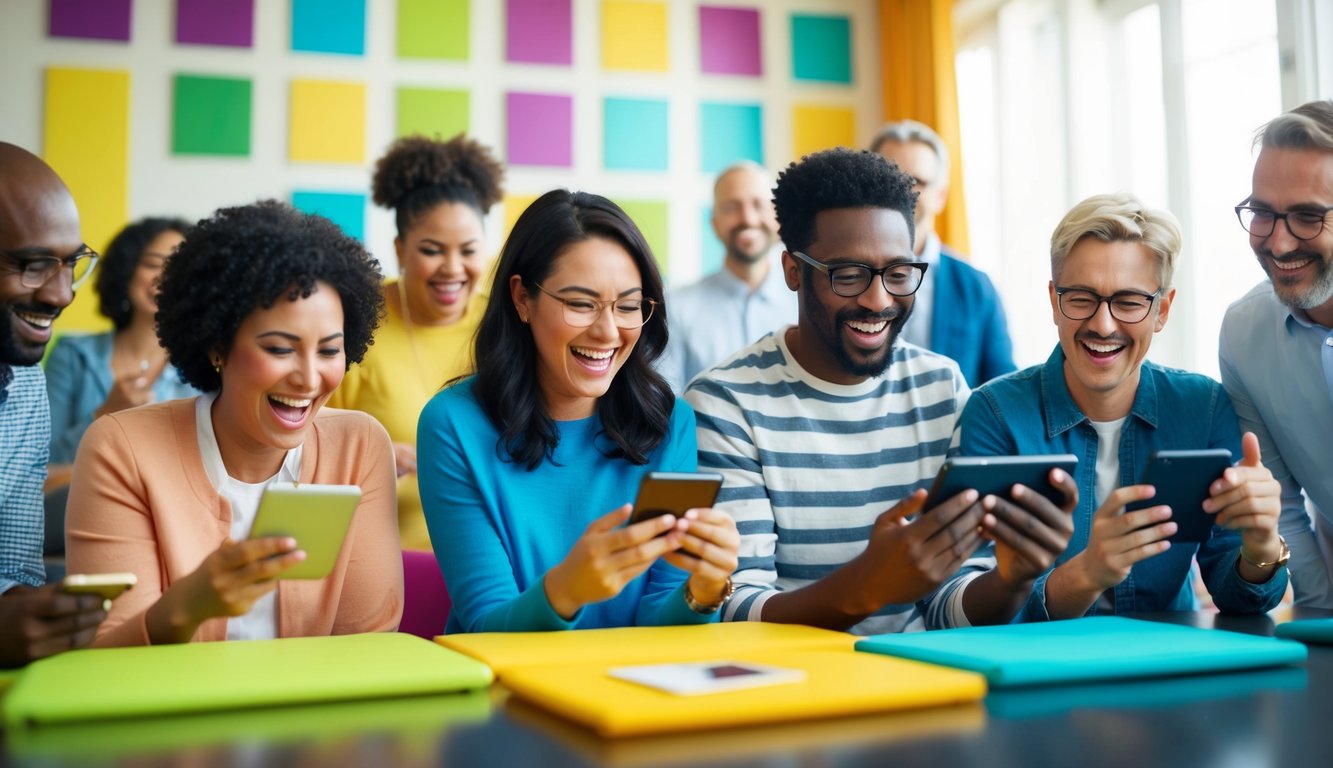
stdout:
MULTIPOLYGON (((1248 205, 1277 213, 1333 205, 1333 152, 1265 147, 1254 163, 1248 205)), ((1329 216, 1333 216, 1330 213, 1329 216)), ((1333 324, 1333 221, 1310 240, 1297 240, 1284 221, 1268 237, 1250 235, 1273 292, 1288 307, 1300 307, 1316 321, 1333 324)))

